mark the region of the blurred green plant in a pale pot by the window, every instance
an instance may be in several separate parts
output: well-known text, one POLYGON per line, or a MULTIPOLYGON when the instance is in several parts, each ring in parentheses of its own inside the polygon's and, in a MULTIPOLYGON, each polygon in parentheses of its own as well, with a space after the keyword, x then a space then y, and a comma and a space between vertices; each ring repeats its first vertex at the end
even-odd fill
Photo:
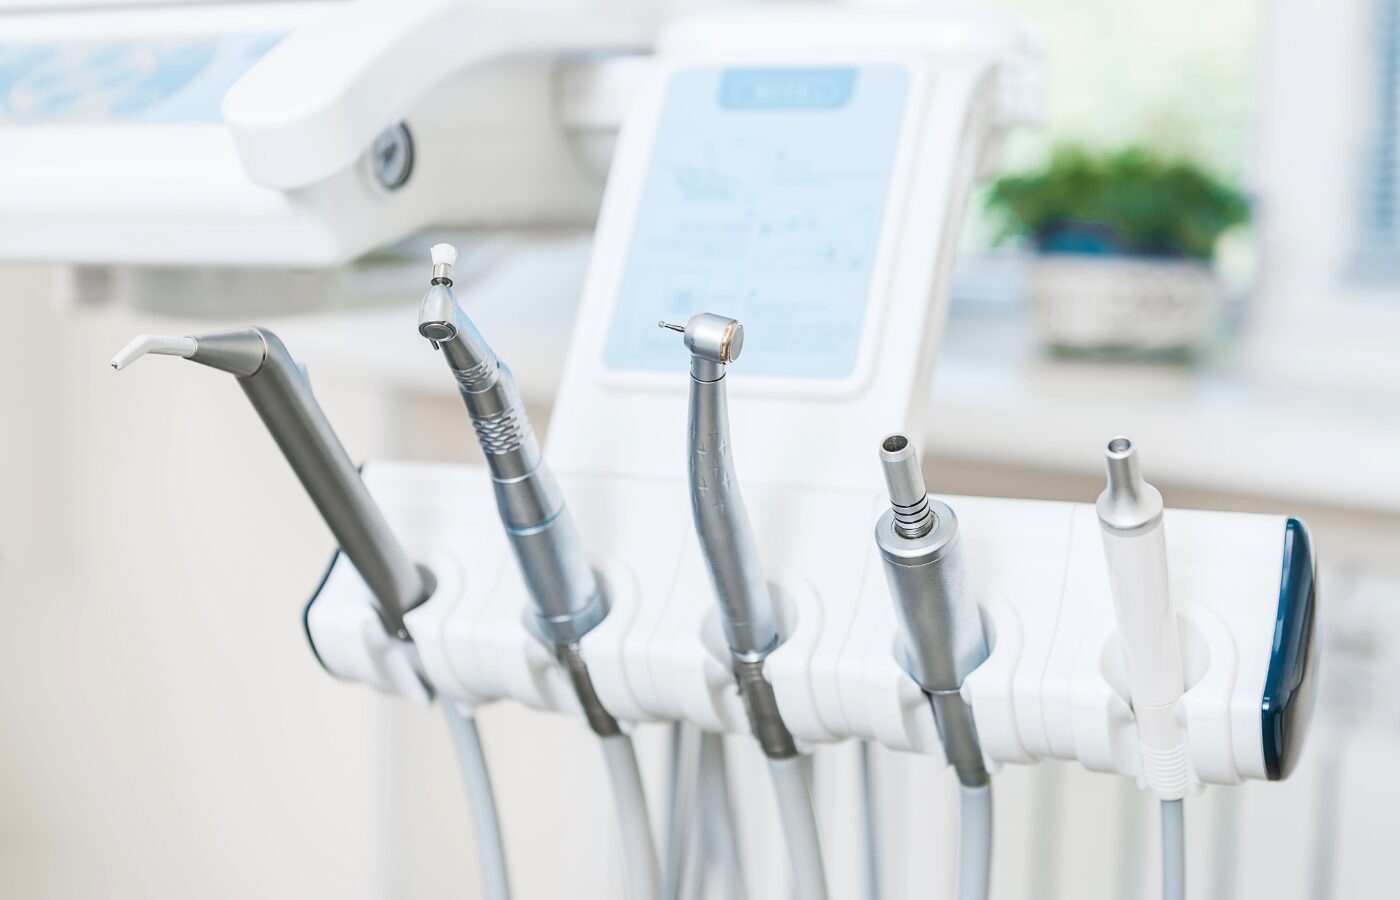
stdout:
POLYGON ((1042 169, 998 179, 987 206, 1002 237, 1036 251, 1029 293, 1042 337, 1078 353, 1198 349, 1224 305, 1217 242, 1249 221, 1240 190, 1141 147, 1061 146, 1042 169))

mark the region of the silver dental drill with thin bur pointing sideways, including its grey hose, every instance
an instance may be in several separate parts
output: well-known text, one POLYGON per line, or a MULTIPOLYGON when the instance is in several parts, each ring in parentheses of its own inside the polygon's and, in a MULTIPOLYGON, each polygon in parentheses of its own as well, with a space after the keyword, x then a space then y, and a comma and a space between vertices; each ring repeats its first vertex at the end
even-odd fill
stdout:
POLYGON ((708 312, 690 316, 685 326, 658 325, 685 335, 690 350, 690 511, 720 600, 720 623, 739 696, 773 774, 787 830, 794 894, 802 900, 822 900, 826 875, 812 794, 797 742, 778 711, 773 684, 763 673, 763 661, 783 635, 731 455, 724 377, 743 349, 743 326, 708 312))

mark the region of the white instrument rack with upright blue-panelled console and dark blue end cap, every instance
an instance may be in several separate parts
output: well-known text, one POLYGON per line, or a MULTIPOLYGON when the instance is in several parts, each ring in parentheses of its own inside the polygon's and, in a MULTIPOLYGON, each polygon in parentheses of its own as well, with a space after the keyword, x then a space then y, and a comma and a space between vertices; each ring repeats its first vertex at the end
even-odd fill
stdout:
MULTIPOLYGON (((662 35, 655 78, 615 155, 545 452, 608 586, 609 613, 581 644, 619 719, 749 732, 690 522, 689 379, 655 328, 713 305, 734 309, 748 332, 729 414, 743 434, 734 453, 753 537, 778 588, 784 640, 763 670, 784 724, 799 745, 860 738, 945 759, 927 697, 896 652, 869 530, 889 497, 869 451, 892 427, 920 423, 958 213, 1002 132, 1036 109, 1028 84, 1039 73, 1019 20, 983 11, 949 27, 958 15, 750 8, 662 35), (857 158, 851 140, 883 155, 857 158), (780 178, 745 181, 755 172, 780 178), (860 193, 833 197, 833 183, 860 193), (843 227, 868 241, 837 241, 843 227), (770 242, 745 249, 759 239, 770 242), (736 253, 755 269, 736 266, 736 253), (851 273, 860 279, 847 291, 851 273), (749 294, 784 302, 731 305, 749 294), (833 344, 833 333, 857 337, 833 344)), ((434 686, 574 711, 567 676, 525 624, 529 592, 507 536, 489 516, 462 515, 491 502, 482 472, 375 463, 365 480, 440 575, 433 599, 407 614, 434 686)), ((939 500, 958 511, 987 627, 990 655, 960 693, 988 770, 1065 759, 1140 777, 1093 505, 939 500)), ((1316 670, 1306 532, 1270 515, 1163 518, 1193 785, 1284 777, 1316 670)), ((312 638, 328 665, 363 669, 349 628, 325 645, 318 607, 328 619, 364 614, 335 571, 312 606, 312 638)))

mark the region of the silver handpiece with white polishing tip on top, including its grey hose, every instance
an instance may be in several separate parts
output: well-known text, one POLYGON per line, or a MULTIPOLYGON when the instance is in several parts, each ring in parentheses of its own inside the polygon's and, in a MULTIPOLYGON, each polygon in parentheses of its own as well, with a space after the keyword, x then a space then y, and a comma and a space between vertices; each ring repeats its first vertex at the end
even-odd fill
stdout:
POLYGON ((533 603, 536 637, 554 651, 568 675, 588 726, 603 746, 623 838, 629 900, 654 900, 661 890, 637 756, 617 719, 603 707, 580 641, 608 614, 582 539, 545 463, 515 377, 497 358, 456 302, 456 249, 431 249, 433 280, 419 307, 419 333, 442 351, 491 470, 496 507, 533 603))

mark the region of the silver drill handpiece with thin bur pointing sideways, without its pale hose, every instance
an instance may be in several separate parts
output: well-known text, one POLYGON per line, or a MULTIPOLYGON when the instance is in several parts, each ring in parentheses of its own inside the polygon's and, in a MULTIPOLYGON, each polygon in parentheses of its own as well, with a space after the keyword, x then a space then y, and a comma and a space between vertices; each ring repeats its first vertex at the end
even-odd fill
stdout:
POLYGON ((764 753, 774 759, 795 756, 773 686, 763 676, 763 659, 781 635, 731 453, 724 375, 743 349, 743 326, 708 312, 690 316, 685 326, 658 325, 685 335, 690 350, 690 511, 720 599, 720 623, 735 677, 764 753))

